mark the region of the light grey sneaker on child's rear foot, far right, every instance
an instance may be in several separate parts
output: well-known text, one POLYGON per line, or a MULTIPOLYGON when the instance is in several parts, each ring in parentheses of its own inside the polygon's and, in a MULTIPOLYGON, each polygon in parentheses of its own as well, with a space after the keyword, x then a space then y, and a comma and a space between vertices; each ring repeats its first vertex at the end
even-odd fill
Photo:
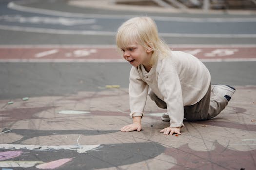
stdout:
POLYGON ((228 101, 230 101, 235 91, 236 89, 229 85, 212 85, 212 92, 216 95, 224 96, 228 101))

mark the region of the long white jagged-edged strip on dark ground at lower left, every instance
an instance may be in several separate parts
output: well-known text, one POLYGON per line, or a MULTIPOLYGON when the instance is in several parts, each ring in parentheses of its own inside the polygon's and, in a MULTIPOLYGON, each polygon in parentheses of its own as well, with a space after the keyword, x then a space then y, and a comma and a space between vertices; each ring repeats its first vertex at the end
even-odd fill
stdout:
POLYGON ((78 153, 95 149, 100 145, 20 145, 20 144, 0 144, 3 149, 28 149, 33 151, 53 151, 53 150, 77 150, 78 153))

